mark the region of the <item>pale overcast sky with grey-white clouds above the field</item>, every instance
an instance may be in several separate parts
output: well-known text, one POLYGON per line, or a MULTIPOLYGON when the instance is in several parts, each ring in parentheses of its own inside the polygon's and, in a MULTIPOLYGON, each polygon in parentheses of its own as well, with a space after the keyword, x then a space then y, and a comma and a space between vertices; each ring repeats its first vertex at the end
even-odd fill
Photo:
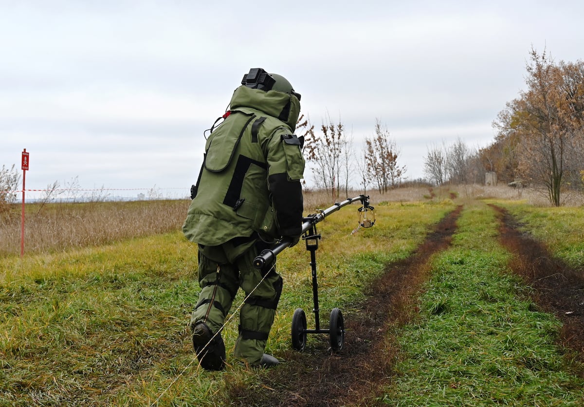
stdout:
POLYGON ((493 141, 532 47, 583 58, 582 1, 281 3, 0 0, 0 166, 26 148, 26 189, 187 196, 203 131, 262 67, 357 153, 380 120, 416 179, 432 145, 493 141))

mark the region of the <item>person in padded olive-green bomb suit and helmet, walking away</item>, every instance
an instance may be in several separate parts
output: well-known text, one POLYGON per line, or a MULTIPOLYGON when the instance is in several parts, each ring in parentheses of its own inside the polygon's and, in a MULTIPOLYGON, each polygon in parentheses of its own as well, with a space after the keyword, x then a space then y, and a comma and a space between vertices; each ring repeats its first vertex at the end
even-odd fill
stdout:
POLYGON ((201 291, 189 326, 206 370, 225 366, 221 329, 239 287, 246 299, 235 357, 251 366, 279 363, 264 350, 283 280, 275 265, 258 270, 253 259, 282 238, 290 246, 300 238, 304 140, 294 135, 299 113, 300 94, 286 78, 252 68, 235 89, 225 120, 207 138, 183 225, 199 248, 201 291))

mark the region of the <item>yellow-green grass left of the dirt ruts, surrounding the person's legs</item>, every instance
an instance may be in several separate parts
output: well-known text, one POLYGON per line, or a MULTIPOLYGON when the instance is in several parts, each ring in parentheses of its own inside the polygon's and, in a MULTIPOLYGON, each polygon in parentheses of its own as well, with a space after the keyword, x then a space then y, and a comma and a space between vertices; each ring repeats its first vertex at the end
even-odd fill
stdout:
MULTIPOLYGON (((353 235, 357 205, 319 223, 322 312, 359 300, 364 284, 408 256, 450 209, 387 204, 376 208, 374 228, 353 235)), ((186 332, 196 259, 180 232, 0 259, 0 405, 224 405, 228 388, 255 388, 263 371, 230 354, 237 317, 223 335, 228 370, 197 367, 186 332)), ((276 356, 290 349, 294 309, 312 309, 309 263, 303 243, 279 256, 284 293, 267 349, 276 356)), ((234 310, 241 301, 240 293, 234 310)))

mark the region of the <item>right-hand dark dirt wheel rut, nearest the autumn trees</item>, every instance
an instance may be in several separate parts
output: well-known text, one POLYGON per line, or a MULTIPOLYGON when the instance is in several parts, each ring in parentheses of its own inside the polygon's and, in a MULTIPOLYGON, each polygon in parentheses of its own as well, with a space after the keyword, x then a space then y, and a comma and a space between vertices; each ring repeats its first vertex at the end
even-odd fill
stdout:
MULTIPOLYGON (((513 272, 534 288, 534 301, 545 312, 562 321, 559 345, 565 346, 575 359, 584 362, 584 277, 554 259, 545 246, 520 232, 519 224, 504 208, 491 205, 500 220, 499 239, 515 254, 510 264, 513 272)), ((584 372, 579 375, 584 377, 584 372)))

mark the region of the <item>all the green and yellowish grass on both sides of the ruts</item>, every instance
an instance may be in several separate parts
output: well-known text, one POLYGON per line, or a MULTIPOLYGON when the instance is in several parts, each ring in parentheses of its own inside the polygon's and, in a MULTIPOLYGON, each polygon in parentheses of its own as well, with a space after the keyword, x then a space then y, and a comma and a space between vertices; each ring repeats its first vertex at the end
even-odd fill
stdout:
MULTIPOLYGON (((581 370, 555 345, 559 321, 534 312, 529 287, 507 274, 510 253, 496 243, 494 212, 464 191, 440 193, 376 197, 375 227, 354 235, 358 204, 318 225, 321 309, 342 307, 351 318, 385 265, 412 255, 433 224, 456 204, 465 207, 453 245, 432 258, 419 315, 398 332, 396 374, 376 403, 584 404, 581 370)), ((581 208, 497 202, 582 268, 581 208)), ((308 196, 308 211, 326 206, 308 196)), ((176 230, 182 218, 165 226, 174 231, 0 259, 0 405, 244 405, 233 395, 266 391, 269 371, 230 354, 237 313, 224 330, 227 370, 197 366, 186 332, 199 292, 197 251, 176 230)), ((309 262, 302 243, 279 256, 284 292, 267 349, 277 357, 289 352, 294 309, 311 309, 309 262)), ((239 294, 232 311, 241 301, 239 294)), ((308 353, 326 340, 308 339, 308 353)))

